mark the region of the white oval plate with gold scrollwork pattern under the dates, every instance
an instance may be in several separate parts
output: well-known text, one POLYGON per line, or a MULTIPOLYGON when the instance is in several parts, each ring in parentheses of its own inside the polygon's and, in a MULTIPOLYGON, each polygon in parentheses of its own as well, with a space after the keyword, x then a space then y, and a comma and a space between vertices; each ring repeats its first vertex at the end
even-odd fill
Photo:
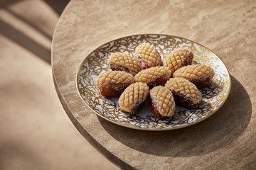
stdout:
POLYGON ((231 87, 228 69, 207 47, 186 38, 156 34, 119 38, 93 50, 80 64, 76 84, 82 100, 97 115, 117 125, 137 130, 174 130, 201 122, 223 106, 231 87), (192 108, 176 105, 175 113, 171 118, 159 120, 151 113, 147 104, 139 113, 129 115, 117 108, 118 98, 105 98, 100 95, 100 91, 95 86, 95 79, 102 72, 110 70, 107 58, 112 52, 126 52, 133 56, 135 47, 142 42, 153 44, 162 60, 177 47, 189 48, 194 54, 193 62, 206 64, 215 70, 215 77, 210 86, 201 89, 203 94, 201 103, 192 108))

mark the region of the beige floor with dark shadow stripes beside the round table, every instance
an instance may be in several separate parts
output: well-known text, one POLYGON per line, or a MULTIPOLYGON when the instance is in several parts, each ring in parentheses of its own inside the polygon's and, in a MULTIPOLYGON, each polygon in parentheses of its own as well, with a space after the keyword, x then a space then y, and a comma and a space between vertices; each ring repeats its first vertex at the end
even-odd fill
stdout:
POLYGON ((0 169, 117 169, 80 135, 53 85, 51 38, 67 0, 0 1, 0 169))

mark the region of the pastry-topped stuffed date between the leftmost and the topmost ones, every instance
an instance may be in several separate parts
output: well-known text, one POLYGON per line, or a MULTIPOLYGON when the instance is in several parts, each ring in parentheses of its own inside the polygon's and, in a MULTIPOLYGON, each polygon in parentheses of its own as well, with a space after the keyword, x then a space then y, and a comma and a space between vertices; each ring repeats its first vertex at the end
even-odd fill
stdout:
POLYGON ((142 70, 138 60, 124 52, 112 53, 107 62, 110 64, 110 69, 113 71, 128 72, 133 76, 142 70))

